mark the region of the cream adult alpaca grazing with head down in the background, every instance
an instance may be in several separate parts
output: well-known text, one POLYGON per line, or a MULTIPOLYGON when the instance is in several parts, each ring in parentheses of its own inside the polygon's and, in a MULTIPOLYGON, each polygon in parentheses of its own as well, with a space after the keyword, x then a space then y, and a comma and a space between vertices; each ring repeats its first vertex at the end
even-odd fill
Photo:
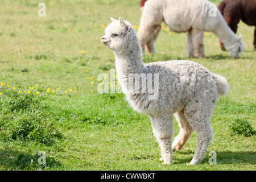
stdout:
MULTIPOLYGON (((204 58, 204 31, 213 32, 234 58, 245 49, 241 36, 228 27, 220 11, 207 0, 147 0, 144 4, 138 38, 142 52, 155 53, 154 42, 165 22, 171 31, 187 32, 188 57, 204 58)), ((171 47, 170 47, 171 48, 171 47)))

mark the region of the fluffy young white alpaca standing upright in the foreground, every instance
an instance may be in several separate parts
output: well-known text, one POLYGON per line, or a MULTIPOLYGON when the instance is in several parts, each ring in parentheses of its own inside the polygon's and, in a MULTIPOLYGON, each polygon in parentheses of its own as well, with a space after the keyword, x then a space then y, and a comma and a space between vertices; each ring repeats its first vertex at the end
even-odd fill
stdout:
POLYGON ((211 73, 192 61, 143 64, 139 40, 131 23, 122 18, 111 19, 101 42, 114 52, 117 79, 127 101, 135 110, 150 116, 163 164, 172 162, 172 151, 179 151, 193 130, 197 133, 197 147, 189 164, 199 163, 213 137, 210 115, 218 95, 228 94, 228 82, 224 77, 211 73), (145 85, 142 81, 139 85, 133 85, 134 77, 131 75, 154 75, 154 78, 144 78, 147 79, 147 86, 158 88, 158 97, 150 99, 152 94, 149 90, 141 92, 145 85), (135 92, 133 86, 140 92, 135 92), (180 133, 172 144, 173 113, 179 122, 180 133))

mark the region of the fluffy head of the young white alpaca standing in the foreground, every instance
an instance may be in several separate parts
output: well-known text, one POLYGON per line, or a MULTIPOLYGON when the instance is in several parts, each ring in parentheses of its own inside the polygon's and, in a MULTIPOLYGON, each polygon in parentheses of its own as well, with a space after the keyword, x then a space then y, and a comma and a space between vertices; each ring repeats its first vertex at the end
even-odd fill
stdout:
POLYGON ((101 42, 113 51, 129 49, 138 42, 135 29, 131 23, 119 18, 110 18, 112 22, 105 28, 105 35, 101 37, 101 42))

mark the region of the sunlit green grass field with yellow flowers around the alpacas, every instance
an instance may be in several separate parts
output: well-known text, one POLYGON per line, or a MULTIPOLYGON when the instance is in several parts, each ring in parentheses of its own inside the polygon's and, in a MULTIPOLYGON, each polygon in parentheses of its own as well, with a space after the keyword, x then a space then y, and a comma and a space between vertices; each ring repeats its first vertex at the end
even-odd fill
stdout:
MULTIPOLYGON (((97 91, 100 73, 109 88, 117 85, 110 75, 113 52, 100 41, 109 17, 139 26, 139 0, 45 1, 46 17, 38 16, 38 1, 0 3, 0 170, 256 169, 254 27, 238 24, 245 52, 237 60, 221 51, 211 32, 204 35, 207 59, 189 59, 186 34, 164 24, 157 53, 143 55, 145 63, 196 61, 229 82, 228 96, 220 97, 212 115, 213 139, 203 162, 187 166, 196 148, 193 133, 166 166, 158 161, 148 116, 131 109, 122 93, 97 91), (46 164, 39 164, 39 151, 46 164), (209 151, 216 152, 217 164, 209 164, 209 151)), ((174 120, 174 137, 178 133, 174 120)))

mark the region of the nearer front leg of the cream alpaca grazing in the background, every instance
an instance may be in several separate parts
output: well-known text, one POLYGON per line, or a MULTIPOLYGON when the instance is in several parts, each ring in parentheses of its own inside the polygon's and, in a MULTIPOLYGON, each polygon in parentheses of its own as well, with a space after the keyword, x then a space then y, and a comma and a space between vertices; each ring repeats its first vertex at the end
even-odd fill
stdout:
POLYGON ((200 59, 205 58, 204 55, 204 30, 192 29, 192 42, 194 49, 194 56, 198 56, 200 59))

